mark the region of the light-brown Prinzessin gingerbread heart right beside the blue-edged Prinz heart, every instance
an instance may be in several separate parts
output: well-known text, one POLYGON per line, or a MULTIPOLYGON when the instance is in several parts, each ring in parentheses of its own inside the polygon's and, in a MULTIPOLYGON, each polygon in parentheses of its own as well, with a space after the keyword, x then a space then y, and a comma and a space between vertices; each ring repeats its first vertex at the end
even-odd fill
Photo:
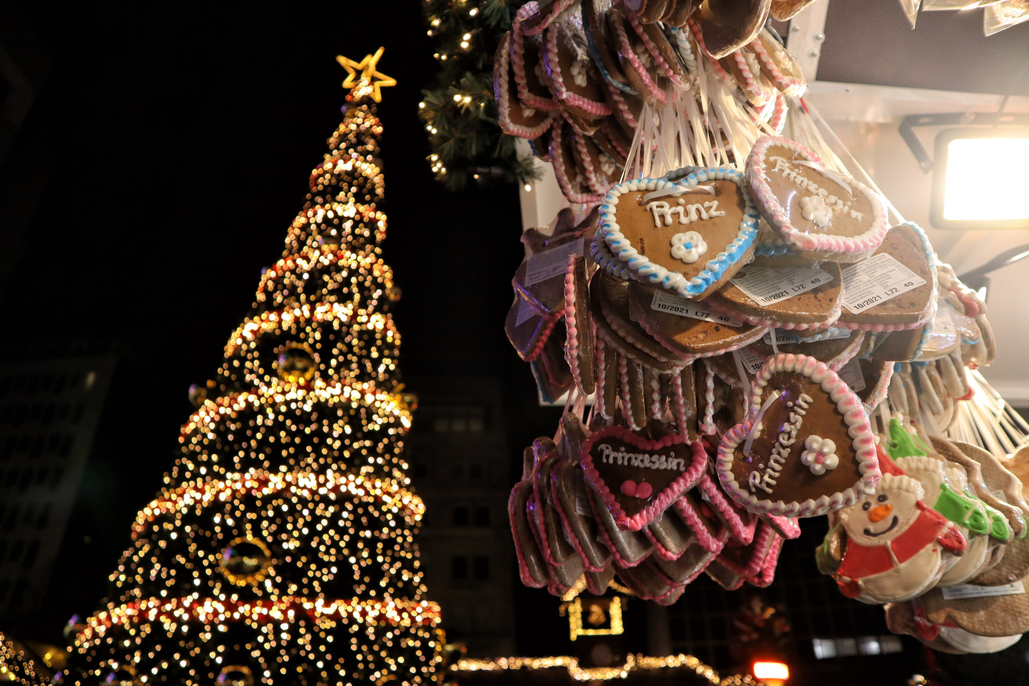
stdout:
POLYGON ((837 174, 804 145, 761 136, 747 158, 747 182, 761 216, 794 252, 858 262, 879 247, 886 203, 860 181, 837 174))

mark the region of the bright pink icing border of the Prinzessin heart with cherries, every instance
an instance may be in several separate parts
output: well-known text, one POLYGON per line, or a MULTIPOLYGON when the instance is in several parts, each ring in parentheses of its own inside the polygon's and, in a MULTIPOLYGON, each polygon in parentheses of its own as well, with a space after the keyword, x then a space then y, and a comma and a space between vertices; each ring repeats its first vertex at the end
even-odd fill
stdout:
POLYGON ((689 490, 697 485, 703 476, 704 471, 707 469, 707 452, 705 452, 704 447, 699 441, 689 442, 683 440, 681 436, 674 434, 666 436, 658 441, 650 441, 633 434, 625 426, 607 426, 599 432, 596 432, 589 439, 587 439, 586 443, 582 444, 581 454, 582 471, 586 474, 587 483, 592 486, 594 490, 600 493, 601 498, 604 499, 604 504, 607 505, 607 508, 611 511, 611 515, 614 517, 614 521, 617 522, 618 526, 627 528, 630 531, 638 531, 644 525, 657 519, 658 516, 667 510, 672 503, 678 500, 684 491, 689 490), (593 448, 593 444, 598 440, 609 436, 613 436, 643 450, 660 450, 661 448, 666 448, 671 445, 687 445, 694 454, 694 461, 662 492, 658 493, 652 503, 630 517, 626 514, 626 511, 622 509, 622 506, 618 505, 618 502, 614 500, 614 495, 604 483, 603 479, 601 479, 600 473, 597 471, 597 468, 594 467, 593 458, 590 456, 590 449, 593 448))

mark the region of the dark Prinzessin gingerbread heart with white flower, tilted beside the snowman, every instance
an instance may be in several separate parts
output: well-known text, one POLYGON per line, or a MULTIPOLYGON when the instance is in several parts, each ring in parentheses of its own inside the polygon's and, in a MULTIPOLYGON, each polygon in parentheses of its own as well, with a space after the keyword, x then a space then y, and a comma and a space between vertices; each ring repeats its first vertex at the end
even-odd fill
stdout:
POLYGON ((853 505, 879 481, 858 400, 814 357, 778 354, 754 378, 750 412, 718 446, 725 492, 752 512, 810 517, 853 505))

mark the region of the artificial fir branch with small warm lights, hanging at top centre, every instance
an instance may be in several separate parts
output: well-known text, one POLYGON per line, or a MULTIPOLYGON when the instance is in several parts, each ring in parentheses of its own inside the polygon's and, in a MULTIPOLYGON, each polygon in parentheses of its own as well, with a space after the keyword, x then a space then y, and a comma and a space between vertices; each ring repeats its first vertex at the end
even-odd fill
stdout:
POLYGON ((500 131, 493 100, 493 56, 524 0, 428 0, 422 7, 438 41, 439 73, 422 91, 429 163, 436 179, 457 191, 539 177, 532 158, 500 131))

